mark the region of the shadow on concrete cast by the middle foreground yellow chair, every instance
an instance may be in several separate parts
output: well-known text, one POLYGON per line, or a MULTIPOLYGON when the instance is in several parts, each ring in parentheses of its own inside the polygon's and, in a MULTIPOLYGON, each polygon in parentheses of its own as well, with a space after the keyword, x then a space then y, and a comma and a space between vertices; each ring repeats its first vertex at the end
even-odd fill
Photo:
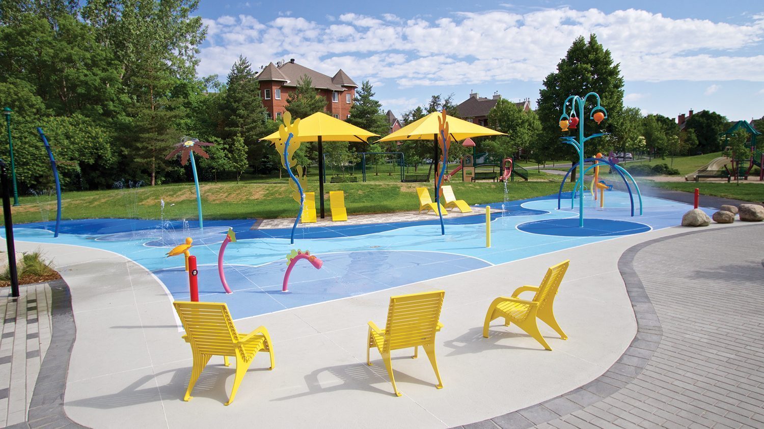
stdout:
MULTIPOLYGON (((413 349, 410 350, 413 356, 413 349)), ((429 360, 423 350, 419 350, 419 357, 417 360, 421 360, 422 369, 432 373, 432 366, 430 366, 429 360)), ((393 357, 393 375, 395 376, 395 382, 399 389, 406 389, 406 384, 419 384, 419 385, 432 385, 433 388, 437 384, 435 379, 435 373, 432 373, 432 381, 426 381, 410 376, 406 373, 401 373, 395 368, 395 361, 411 359, 411 356, 396 356, 393 357)), ((383 393, 385 395, 395 395, 393 392, 393 385, 390 383, 390 378, 387 376, 387 369, 384 368, 382 360, 371 360, 372 365, 368 366, 366 363, 349 363, 347 365, 329 366, 321 369, 316 369, 312 373, 305 376, 305 384, 308 387, 307 392, 296 393, 294 395, 284 396, 282 398, 275 398, 274 401, 286 401, 293 398, 302 398, 303 396, 316 395, 319 393, 330 393, 342 390, 357 390, 361 392, 374 392, 383 393), (329 373, 338 379, 341 384, 330 385, 322 387, 319 382, 319 375, 322 373, 329 373), (374 384, 379 384, 383 387, 377 387, 374 384)))

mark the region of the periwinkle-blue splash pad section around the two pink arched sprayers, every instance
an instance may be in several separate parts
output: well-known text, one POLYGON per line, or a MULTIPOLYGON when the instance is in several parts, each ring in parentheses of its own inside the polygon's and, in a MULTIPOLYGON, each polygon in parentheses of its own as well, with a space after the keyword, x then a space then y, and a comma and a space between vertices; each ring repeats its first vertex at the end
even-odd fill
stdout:
MULTIPOLYGON (((199 266, 199 301, 225 302, 234 318, 247 318, 490 266, 478 258, 441 252, 369 250, 326 253, 321 259, 322 269, 309 263, 294 267, 290 292, 281 292, 286 257, 262 266, 226 265, 231 295, 220 285, 217 266, 199 266)), ((183 267, 153 273, 173 299, 189 299, 188 273, 183 267)))

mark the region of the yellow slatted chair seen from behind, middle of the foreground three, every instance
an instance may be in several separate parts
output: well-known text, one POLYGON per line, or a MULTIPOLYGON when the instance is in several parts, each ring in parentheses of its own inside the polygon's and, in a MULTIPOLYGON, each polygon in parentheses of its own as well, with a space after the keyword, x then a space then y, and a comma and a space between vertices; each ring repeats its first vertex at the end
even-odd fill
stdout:
POLYGON ((444 291, 436 291, 391 296, 385 328, 380 329, 373 321, 369 322, 366 363, 371 366, 369 350, 371 347, 377 347, 397 396, 400 396, 400 392, 395 386, 390 352, 409 347, 414 347, 413 357, 416 357, 418 347, 422 346, 429 357, 432 369, 435 369, 435 376, 438 377, 438 385, 435 387, 443 388, 438 364, 435 362, 435 332, 440 331, 443 326, 438 320, 444 295, 444 291))

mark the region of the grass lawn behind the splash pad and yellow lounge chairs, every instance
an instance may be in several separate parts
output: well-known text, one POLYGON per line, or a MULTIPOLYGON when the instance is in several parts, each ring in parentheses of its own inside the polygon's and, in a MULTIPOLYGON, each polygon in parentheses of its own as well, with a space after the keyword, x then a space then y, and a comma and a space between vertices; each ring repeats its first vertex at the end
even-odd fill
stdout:
MULTIPOLYGON (((380 174, 380 176, 382 176, 380 174)), ((451 182, 457 198, 468 204, 501 202, 504 185, 500 182, 461 182, 461 175, 451 182)), ((557 192, 560 178, 545 173, 531 175, 532 182, 516 181, 508 184, 510 200, 533 198, 557 192), (552 182, 545 176, 552 176, 552 182)), ((360 178, 359 178, 360 179, 360 178)), ((329 191, 345 192, 348 215, 389 213, 419 208, 416 188, 425 186, 432 195, 432 181, 401 183, 397 180, 369 182, 326 183, 325 211, 329 212, 329 191)), ((202 183, 202 208, 206 219, 234 218, 291 218, 296 215, 297 203, 286 178, 263 178, 236 182, 202 183)), ((306 192, 318 192, 316 176, 309 176, 306 192)), ((570 185, 565 185, 569 189, 570 185)), ((13 208, 15 223, 55 220, 56 197, 45 195, 20 197, 21 206, 13 208)), ((316 198, 316 208, 319 202, 316 198)), ((105 191, 63 192, 63 218, 147 218, 196 219, 196 194, 193 182, 172 185, 144 186, 137 189, 105 191), (160 211, 163 200, 164 211, 160 211)))

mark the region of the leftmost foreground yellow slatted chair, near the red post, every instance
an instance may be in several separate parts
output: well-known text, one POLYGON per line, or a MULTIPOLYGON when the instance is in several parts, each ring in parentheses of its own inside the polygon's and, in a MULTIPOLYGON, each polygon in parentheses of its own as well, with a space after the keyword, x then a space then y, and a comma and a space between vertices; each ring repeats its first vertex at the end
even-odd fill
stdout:
POLYGON ((234 386, 231 389, 231 397, 225 405, 234 402, 236 391, 241 379, 254 360, 254 355, 263 350, 270 353, 270 369, 274 369, 273 343, 270 341, 267 329, 258 327, 249 334, 240 334, 236 331, 228 306, 225 302, 173 302, 175 310, 180 316, 186 335, 183 339, 191 344, 193 353, 193 369, 189 387, 183 401, 193 398, 191 390, 196 380, 202 374, 202 370, 213 355, 223 356, 225 366, 228 366, 228 356, 236 357, 236 376, 234 386))

